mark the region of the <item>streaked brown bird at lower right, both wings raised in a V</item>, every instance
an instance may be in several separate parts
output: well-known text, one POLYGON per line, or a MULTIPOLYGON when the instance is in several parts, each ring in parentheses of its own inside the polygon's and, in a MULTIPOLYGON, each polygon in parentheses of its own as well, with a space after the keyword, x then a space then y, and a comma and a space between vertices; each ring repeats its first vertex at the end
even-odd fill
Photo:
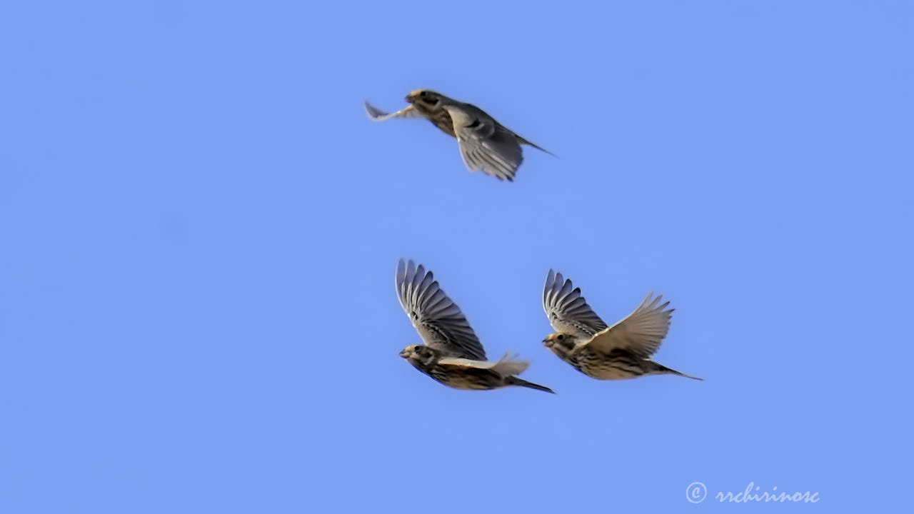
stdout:
POLYGON ((600 380, 622 380, 671 373, 702 380, 651 360, 670 329, 673 309, 662 296, 648 294, 641 305, 608 327, 587 304, 580 288, 549 270, 543 309, 555 332, 543 344, 581 373, 600 380))

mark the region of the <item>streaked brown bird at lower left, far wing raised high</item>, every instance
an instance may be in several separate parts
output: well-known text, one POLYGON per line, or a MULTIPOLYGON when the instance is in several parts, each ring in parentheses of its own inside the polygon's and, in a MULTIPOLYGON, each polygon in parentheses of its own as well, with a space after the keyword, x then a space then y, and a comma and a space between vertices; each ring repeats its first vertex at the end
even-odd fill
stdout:
POLYGON ((410 345, 400 357, 421 372, 454 389, 488 390, 521 386, 538 391, 551 389, 517 378, 529 363, 509 358, 490 361, 460 307, 420 264, 400 260, 397 265, 400 305, 416 327, 424 345, 410 345))

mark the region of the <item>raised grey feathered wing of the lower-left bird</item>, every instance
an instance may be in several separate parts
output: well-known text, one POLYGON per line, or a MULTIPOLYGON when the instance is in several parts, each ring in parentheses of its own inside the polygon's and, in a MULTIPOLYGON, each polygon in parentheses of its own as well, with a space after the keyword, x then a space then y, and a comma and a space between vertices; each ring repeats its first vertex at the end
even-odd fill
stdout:
POLYGON ((397 295, 412 326, 431 348, 449 357, 485 360, 485 350, 457 304, 420 264, 400 260, 397 295))

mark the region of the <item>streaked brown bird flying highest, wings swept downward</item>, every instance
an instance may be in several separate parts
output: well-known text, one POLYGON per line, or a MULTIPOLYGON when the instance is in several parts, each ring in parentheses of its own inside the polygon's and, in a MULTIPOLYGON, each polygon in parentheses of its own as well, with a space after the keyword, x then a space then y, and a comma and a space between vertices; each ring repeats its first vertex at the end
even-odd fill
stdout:
POLYGON ((406 96, 409 105, 397 112, 383 112, 365 102, 368 117, 376 122, 390 118, 425 118, 444 134, 457 138, 463 164, 470 171, 482 171, 499 180, 513 181, 517 167, 524 160, 520 145, 529 145, 552 155, 545 148, 530 143, 498 123, 473 104, 448 98, 430 90, 416 90, 406 96))

